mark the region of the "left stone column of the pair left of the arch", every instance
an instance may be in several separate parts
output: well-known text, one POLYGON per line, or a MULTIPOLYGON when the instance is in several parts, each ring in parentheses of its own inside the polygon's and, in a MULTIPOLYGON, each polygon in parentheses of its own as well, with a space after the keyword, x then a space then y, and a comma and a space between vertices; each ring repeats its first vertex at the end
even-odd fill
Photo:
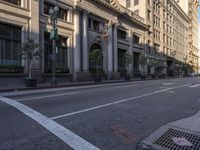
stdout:
POLYGON ((81 71, 81 51, 80 51, 80 12, 74 11, 74 53, 73 53, 73 81, 77 81, 78 73, 81 71))

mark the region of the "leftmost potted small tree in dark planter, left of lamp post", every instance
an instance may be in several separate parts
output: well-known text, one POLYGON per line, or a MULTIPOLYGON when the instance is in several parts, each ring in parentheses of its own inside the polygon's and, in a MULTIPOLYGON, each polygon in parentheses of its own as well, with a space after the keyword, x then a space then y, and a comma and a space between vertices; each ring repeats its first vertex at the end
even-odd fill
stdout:
POLYGON ((32 62, 33 59, 39 59, 40 51, 38 50, 38 44, 35 43, 33 39, 28 38, 27 42, 22 43, 18 48, 19 54, 27 61, 28 66, 28 77, 25 79, 25 84, 27 87, 37 86, 37 80, 32 78, 32 62))

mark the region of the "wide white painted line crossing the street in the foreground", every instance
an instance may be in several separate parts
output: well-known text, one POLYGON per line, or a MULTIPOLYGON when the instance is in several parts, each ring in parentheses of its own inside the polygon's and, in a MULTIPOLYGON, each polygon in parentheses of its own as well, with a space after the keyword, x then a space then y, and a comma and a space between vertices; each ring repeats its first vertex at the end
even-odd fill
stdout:
POLYGON ((13 106, 25 115, 29 116, 75 150, 100 150, 99 148, 85 141, 72 131, 64 128, 60 124, 56 123, 55 121, 40 114, 39 112, 33 110, 32 108, 26 105, 23 105, 12 99, 8 99, 2 96, 0 96, 0 101, 13 106))

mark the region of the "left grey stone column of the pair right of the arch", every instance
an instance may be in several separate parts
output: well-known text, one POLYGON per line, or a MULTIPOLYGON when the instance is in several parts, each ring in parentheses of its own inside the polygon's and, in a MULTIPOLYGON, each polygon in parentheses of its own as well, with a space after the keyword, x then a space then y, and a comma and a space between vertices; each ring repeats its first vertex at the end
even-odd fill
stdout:
POLYGON ((108 27, 108 79, 112 79, 113 73, 113 25, 108 27))

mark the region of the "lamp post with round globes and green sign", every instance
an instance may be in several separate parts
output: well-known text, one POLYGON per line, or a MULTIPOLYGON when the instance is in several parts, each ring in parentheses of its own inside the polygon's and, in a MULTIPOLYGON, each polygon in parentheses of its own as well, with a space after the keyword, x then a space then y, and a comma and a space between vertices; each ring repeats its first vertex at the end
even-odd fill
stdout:
POLYGON ((56 66, 56 40, 58 39, 58 29, 56 28, 56 22, 57 22, 57 15, 59 12, 59 8, 55 6, 54 8, 51 8, 49 10, 49 15, 51 17, 51 35, 50 39, 53 41, 53 50, 52 50, 52 81, 51 84, 57 84, 57 79, 56 79, 56 71, 55 71, 55 66, 56 66))

